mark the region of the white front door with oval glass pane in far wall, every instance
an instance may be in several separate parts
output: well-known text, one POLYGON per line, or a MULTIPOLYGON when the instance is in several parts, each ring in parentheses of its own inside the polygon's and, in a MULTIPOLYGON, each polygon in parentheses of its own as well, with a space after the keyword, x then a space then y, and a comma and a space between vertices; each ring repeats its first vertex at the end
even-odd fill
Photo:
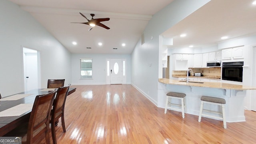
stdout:
POLYGON ((110 60, 110 84, 122 84, 122 59, 110 60))

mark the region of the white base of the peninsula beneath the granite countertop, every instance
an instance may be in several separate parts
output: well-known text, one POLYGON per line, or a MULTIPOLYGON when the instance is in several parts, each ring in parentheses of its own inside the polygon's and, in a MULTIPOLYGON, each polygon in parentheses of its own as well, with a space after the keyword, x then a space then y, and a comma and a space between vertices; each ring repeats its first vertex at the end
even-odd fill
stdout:
MULTIPOLYGON (((172 81, 158 83, 158 107, 165 107, 166 94, 168 92, 181 92, 186 94, 186 106, 187 114, 193 114, 199 116, 200 111, 200 98, 201 96, 212 96, 217 98, 223 98, 226 100, 225 112, 226 122, 243 122, 244 116, 244 97, 246 96, 246 90, 234 90, 222 88, 212 88, 207 82, 204 84, 186 84, 178 81, 172 81), (174 84, 172 84, 174 82, 174 84), (177 83, 176 83, 177 82, 177 83), (162 97, 161 97, 162 96, 162 97)), ((179 100, 173 100, 172 102, 180 104, 179 100)), ((204 109, 221 112, 222 108, 217 105, 204 104, 204 109)), ((212 115, 212 114, 211 114, 212 115)), ((218 116, 216 114, 216 116, 218 116)), ((185 114, 186 118, 186 114, 185 114)))

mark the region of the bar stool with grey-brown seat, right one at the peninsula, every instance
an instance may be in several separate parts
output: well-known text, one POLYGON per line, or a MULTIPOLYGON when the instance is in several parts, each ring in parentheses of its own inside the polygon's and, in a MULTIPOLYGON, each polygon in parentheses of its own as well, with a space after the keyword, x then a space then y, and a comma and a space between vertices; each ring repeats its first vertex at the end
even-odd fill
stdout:
POLYGON ((226 100, 224 100, 223 98, 214 98, 214 97, 210 97, 210 96, 202 96, 201 97, 201 107, 200 107, 198 122, 201 122, 201 117, 202 116, 208 116, 210 118, 218 118, 218 119, 223 120, 224 128, 227 128, 226 117, 225 117, 225 104, 226 104, 226 100), (222 106, 222 113, 211 111, 211 110, 204 110, 203 109, 204 103, 216 104, 216 105, 222 106), (222 117, 212 116, 212 115, 209 115, 209 114, 203 114, 202 113, 203 111, 220 114, 222 117))

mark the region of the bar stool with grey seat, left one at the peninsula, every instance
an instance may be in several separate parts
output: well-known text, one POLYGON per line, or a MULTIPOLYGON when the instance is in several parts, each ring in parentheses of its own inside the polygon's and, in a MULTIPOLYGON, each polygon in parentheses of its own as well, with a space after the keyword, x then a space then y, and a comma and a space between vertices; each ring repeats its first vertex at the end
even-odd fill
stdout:
POLYGON ((170 110, 178 110, 178 111, 181 110, 182 118, 184 118, 185 117, 184 113, 186 112, 185 96, 186 96, 186 94, 183 94, 183 93, 168 92, 166 94, 166 105, 165 105, 164 113, 166 114, 167 108, 170 109, 170 110), (170 98, 170 100, 169 100, 169 98, 170 98), (181 100, 181 105, 180 104, 173 104, 172 103, 172 98, 180 99, 181 100), (168 106, 168 104, 170 106, 168 106), (174 108, 174 107, 171 107, 171 105, 179 106, 181 108, 174 108))

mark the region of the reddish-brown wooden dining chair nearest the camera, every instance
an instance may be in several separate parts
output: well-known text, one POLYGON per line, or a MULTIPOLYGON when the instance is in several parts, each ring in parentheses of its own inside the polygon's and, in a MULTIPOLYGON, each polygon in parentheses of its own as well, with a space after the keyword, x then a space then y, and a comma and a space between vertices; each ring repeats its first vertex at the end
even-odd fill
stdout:
POLYGON ((32 144, 44 133, 46 144, 50 144, 50 112, 56 92, 57 89, 48 94, 36 96, 29 121, 4 136, 22 136, 22 144, 32 144))

